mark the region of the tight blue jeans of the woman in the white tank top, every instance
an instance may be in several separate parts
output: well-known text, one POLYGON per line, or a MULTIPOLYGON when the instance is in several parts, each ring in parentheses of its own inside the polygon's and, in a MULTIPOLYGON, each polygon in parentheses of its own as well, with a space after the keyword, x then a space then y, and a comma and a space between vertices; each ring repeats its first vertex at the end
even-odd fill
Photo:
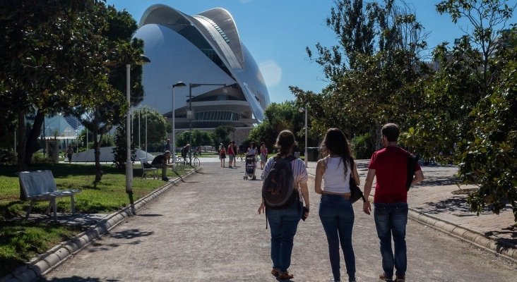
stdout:
POLYGON ((355 280, 355 255, 352 247, 352 228, 354 209, 352 202, 339 195, 321 195, 319 219, 328 241, 328 255, 331 259, 332 274, 335 281, 340 280, 339 244, 343 249, 348 280, 355 280))

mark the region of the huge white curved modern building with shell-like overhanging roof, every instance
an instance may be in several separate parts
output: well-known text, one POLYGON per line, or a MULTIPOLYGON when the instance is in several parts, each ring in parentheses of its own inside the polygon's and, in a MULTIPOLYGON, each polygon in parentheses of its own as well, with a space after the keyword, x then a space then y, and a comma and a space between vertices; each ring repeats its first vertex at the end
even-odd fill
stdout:
POLYGON ((174 88, 176 128, 189 128, 190 107, 193 128, 251 127, 263 121, 268 89, 225 9, 189 16, 153 5, 143 13, 135 37, 143 39, 151 61, 143 67, 142 105, 171 118, 172 85, 186 84, 174 88))

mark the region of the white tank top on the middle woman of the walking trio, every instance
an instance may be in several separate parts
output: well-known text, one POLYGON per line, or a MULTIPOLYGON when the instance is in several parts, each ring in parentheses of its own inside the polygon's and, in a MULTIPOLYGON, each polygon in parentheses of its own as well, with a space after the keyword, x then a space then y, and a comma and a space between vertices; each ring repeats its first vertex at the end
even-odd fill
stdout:
POLYGON ((343 160, 341 157, 328 157, 326 159, 327 167, 323 173, 323 191, 333 193, 349 193, 350 192, 350 163, 347 161, 347 175, 343 160))

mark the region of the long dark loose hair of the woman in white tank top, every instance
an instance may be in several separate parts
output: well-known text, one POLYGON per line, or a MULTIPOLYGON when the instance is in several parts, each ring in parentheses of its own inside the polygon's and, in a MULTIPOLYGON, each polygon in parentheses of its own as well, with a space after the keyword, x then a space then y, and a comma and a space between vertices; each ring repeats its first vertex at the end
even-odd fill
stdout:
MULTIPOLYGON (((352 158, 350 145, 348 144, 345 133, 339 128, 328 128, 325 138, 320 145, 321 155, 327 157, 329 154, 337 154, 341 157, 340 161, 343 160, 343 167, 345 168, 345 177, 347 175, 348 166, 347 163, 352 158)), ((326 159, 328 161, 328 159, 326 159)), ((326 167, 326 163, 325 163, 326 167)))

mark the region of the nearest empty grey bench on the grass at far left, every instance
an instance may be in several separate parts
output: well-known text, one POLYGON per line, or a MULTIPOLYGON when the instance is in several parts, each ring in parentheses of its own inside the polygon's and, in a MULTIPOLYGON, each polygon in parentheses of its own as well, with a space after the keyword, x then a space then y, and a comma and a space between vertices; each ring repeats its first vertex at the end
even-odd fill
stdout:
POLYGON ((70 197, 72 214, 76 213, 76 202, 73 196, 81 190, 57 190, 52 171, 21 171, 18 173, 18 180, 20 180, 20 190, 23 191, 22 200, 30 200, 25 219, 29 218, 35 202, 49 201, 45 214, 49 214, 52 207, 54 220, 57 221, 56 199, 59 197, 70 197))

